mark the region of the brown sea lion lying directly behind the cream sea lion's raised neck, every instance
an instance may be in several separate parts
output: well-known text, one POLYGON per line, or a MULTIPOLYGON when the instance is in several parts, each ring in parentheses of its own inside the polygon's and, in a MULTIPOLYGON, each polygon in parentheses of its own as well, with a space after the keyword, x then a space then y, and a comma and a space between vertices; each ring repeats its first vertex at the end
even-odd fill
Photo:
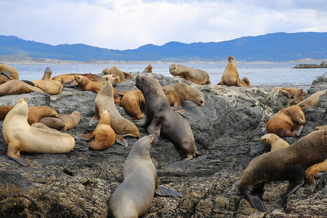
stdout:
MULTIPOLYGON (((0 107, 0 120, 4 120, 7 113, 15 106, 1 106, 0 107)), ((32 125, 37 123, 42 117, 55 117, 58 118, 59 114, 53 108, 46 106, 28 107, 27 123, 32 125)))

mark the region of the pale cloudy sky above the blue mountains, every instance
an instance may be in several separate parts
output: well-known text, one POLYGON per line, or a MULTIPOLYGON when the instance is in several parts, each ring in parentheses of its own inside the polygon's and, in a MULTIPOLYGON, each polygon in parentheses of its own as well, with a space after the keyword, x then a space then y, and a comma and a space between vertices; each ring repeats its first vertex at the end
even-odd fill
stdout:
POLYGON ((327 32, 326 0, 1 0, 0 35, 134 49, 327 32))

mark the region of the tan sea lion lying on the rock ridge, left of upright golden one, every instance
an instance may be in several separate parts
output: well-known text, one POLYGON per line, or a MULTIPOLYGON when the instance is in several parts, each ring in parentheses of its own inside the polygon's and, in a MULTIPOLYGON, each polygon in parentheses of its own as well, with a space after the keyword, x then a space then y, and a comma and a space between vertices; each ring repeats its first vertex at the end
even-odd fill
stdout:
POLYGON ((201 69, 193 69, 184 65, 170 65, 169 72, 173 76, 179 76, 199 85, 211 84, 209 74, 201 69))

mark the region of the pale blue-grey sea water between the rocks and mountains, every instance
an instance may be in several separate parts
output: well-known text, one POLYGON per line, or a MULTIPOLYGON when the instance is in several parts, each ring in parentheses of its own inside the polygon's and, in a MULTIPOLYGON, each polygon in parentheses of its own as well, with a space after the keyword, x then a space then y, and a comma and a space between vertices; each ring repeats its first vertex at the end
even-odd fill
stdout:
MULTIPOLYGON (((152 64, 153 73, 172 76, 169 73, 171 64, 152 64)), ((248 77, 251 86, 309 86, 317 77, 327 72, 327 68, 294 69, 295 65, 305 63, 237 63, 240 78, 248 77)), ((321 63, 307 63, 318 64, 321 63)), ((205 70, 210 75, 212 84, 218 84, 226 64, 185 64, 191 68, 205 70)), ((100 73, 112 65, 12 65, 20 72, 22 80, 39 80, 44 69, 49 66, 53 69, 52 76, 65 73, 100 73)), ((117 64, 125 72, 142 72, 147 64, 117 64)))

